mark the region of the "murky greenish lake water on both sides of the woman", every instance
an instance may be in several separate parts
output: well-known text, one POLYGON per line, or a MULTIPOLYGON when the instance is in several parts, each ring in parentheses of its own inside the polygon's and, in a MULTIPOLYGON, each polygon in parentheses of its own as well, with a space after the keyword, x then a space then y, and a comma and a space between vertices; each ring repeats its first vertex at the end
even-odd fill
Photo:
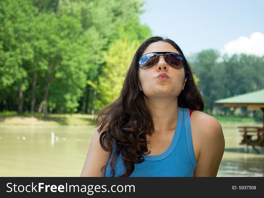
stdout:
MULTIPOLYGON (((237 126, 221 123, 225 151, 217 177, 263 177, 264 151, 244 145, 237 126)), ((0 126, 0 176, 79 177, 94 126, 0 126)))

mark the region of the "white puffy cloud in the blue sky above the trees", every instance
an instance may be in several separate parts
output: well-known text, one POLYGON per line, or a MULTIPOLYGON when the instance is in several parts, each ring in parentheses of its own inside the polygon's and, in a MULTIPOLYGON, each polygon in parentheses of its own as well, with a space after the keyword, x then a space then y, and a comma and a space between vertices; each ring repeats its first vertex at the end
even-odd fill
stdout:
POLYGON ((254 32, 250 37, 240 36, 234 41, 224 45, 220 50, 221 54, 227 53, 229 56, 235 53, 254 54, 256 56, 264 55, 264 35, 260 32, 254 32))

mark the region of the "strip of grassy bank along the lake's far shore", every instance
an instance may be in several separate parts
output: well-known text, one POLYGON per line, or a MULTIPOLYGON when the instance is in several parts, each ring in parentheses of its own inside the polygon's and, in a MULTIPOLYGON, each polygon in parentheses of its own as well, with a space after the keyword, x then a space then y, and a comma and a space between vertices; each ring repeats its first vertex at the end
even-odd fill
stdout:
MULTIPOLYGON (((214 115, 213 115, 214 116, 214 115)), ((220 123, 244 123, 261 124, 252 117, 235 116, 214 116, 220 123)), ((94 115, 87 114, 49 114, 47 118, 44 114, 28 113, 18 115, 17 112, 0 112, 0 125, 71 125, 86 126, 94 125, 94 115)))

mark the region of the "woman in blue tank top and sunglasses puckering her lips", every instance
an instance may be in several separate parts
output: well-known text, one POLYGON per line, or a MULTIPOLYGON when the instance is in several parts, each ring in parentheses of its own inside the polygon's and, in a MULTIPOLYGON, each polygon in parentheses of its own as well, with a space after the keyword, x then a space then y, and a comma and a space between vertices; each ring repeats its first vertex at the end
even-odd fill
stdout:
POLYGON ((81 176, 215 177, 224 152, 220 123, 180 47, 152 37, 134 55, 120 96, 96 115, 81 176))

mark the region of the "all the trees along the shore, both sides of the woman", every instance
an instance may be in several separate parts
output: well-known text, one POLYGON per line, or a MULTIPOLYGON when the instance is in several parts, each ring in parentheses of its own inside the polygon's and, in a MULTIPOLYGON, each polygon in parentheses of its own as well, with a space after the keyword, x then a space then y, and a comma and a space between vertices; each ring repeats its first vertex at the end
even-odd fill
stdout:
MULTIPOLYGON (((2 0, 0 111, 94 114, 112 102, 137 47, 152 36, 140 23, 142 5, 2 0)), ((204 50, 190 63, 208 113, 216 99, 264 88, 264 57, 204 50)))

